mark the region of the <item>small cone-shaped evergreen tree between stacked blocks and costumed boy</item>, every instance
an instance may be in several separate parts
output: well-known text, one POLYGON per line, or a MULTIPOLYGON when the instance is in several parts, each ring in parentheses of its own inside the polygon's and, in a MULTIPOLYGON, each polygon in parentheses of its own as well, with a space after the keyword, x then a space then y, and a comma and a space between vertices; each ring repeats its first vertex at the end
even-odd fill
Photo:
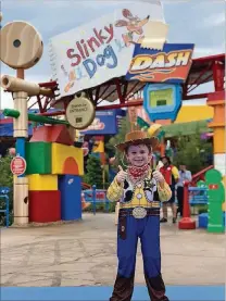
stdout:
POLYGON ((103 187, 101 162, 95 155, 89 155, 87 160, 87 173, 84 175, 84 181, 91 186, 96 185, 98 189, 103 187))

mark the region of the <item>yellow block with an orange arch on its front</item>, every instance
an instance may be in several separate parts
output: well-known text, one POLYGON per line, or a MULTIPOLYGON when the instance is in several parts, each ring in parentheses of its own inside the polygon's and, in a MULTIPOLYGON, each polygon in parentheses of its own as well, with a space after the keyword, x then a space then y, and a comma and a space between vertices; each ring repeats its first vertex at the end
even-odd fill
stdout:
POLYGON ((80 148, 52 143, 53 175, 84 175, 84 153, 80 148))

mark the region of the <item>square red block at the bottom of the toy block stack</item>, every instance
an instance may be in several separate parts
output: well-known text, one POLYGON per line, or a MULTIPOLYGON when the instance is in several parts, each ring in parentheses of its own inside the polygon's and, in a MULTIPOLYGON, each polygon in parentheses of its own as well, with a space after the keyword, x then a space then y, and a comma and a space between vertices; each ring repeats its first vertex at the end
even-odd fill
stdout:
POLYGON ((61 192, 29 191, 29 222, 51 223, 61 221, 61 192))

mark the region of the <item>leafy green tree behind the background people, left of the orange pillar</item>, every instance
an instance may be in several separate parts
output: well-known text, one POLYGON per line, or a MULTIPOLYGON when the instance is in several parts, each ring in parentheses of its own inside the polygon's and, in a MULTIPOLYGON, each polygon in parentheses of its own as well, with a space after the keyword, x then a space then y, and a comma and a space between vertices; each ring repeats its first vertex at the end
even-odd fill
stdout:
POLYGON ((187 165, 192 174, 208 167, 209 156, 212 154, 212 143, 200 139, 200 134, 180 136, 177 139, 177 153, 174 156, 174 165, 187 165))

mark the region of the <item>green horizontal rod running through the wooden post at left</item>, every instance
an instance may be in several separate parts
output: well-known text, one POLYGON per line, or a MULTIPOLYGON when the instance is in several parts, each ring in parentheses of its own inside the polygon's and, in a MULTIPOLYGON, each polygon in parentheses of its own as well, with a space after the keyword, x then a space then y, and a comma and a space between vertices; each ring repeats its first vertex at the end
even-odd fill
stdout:
MULTIPOLYGON (((17 118, 21 115, 21 113, 17 110, 4 109, 3 115, 8 116, 8 117, 17 118)), ((53 118, 50 118, 47 116, 41 116, 41 115, 36 115, 36 114, 27 114, 27 116, 28 116, 29 122, 70 125, 68 122, 53 120, 53 118)))

